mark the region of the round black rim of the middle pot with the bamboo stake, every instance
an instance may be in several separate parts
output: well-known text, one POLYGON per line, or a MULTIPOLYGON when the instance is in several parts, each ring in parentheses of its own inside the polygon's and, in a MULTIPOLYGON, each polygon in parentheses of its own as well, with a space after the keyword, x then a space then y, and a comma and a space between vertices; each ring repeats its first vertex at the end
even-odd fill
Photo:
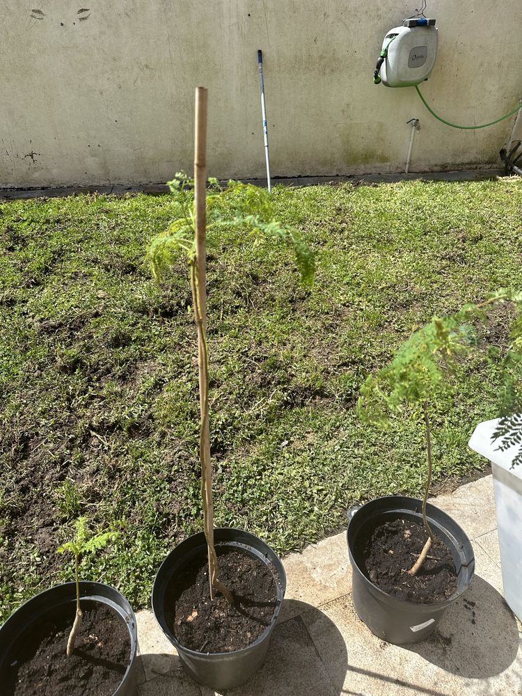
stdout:
MULTIPOLYGON (((207 658, 207 659, 219 660, 219 659, 223 659, 223 658, 225 658, 225 659, 226 659, 226 658, 232 658, 232 657, 234 657, 234 656, 239 656, 239 655, 245 654, 245 653, 248 652, 248 651, 251 651, 251 649, 253 649, 253 647, 255 647, 255 646, 257 646, 258 644, 260 644, 261 642, 263 642, 263 640, 264 640, 265 638, 267 638, 267 635, 269 635, 269 633, 271 633, 271 631, 274 629, 274 626, 276 625, 276 622, 277 622, 277 619, 278 619, 278 615, 279 615, 279 612, 280 612, 280 608, 281 608, 281 606, 282 606, 282 604, 283 604, 283 599, 285 599, 285 590, 286 590, 286 573, 285 573, 285 568, 283 567, 283 563, 280 561, 280 558, 278 557, 278 555, 276 554, 276 552, 274 551, 274 549, 271 548, 271 546, 269 546, 269 544, 267 544, 266 541, 263 541, 263 539, 260 539, 260 537, 256 536, 256 535, 253 534, 252 532, 247 532, 246 530, 237 529, 237 528, 235 528, 235 527, 214 527, 214 534, 215 534, 216 532, 221 532, 221 531, 223 531, 223 530, 226 530, 227 532, 238 532, 238 533, 241 534, 241 535, 247 535, 247 536, 249 536, 249 537, 253 537, 254 539, 257 539, 258 541, 260 541, 260 542, 263 544, 263 546, 266 546, 266 547, 269 549, 269 551, 271 551, 271 552, 274 554, 274 556, 276 556, 277 560, 279 561, 279 565, 280 565, 280 568, 278 568, 277 570, 278 570, 278 571, 280 570, 281 572, 280 572, 279 578, 274 577, 274 580, 276 581, 276 587, 280 587, 280 588, 281 588, 282 595, 281 595, 280 598, 279 598, 279 597, 276 598, 276 608, 275 608, 275 610, 274 610, 274 615, 272 616, 271 621, 270 621, 270 623, 268 624, 267 628, 265 628, 264 631, 261 633, 261 635, 260 635, 258 638, 256 638, 256 640, 255 640, 253 643, 251 643, 250 645, 247 645, 247 646, 244 647, 244 648, 239 648, 239 650, 232 650, 232 651, 229 651, 229 652, 216 652, 216 653, 200 652, 200 651, 198 651, 198 650, 192 650, 191 648, 185 647, 182 643, 180 643, 179 640, 177 640, 177 638, 175 638, 175 635, 173 635, 173 633, 172 633, 170 630, 168 631, 168 633, 167 633, 167 631, 165 631, 164 626, 162 626, 161 623, 160 623, 159 620, 158 620, 158 617, 157 617, 157 609, 155 608, 155 601, 154 601, 155 586, 156 586, 156 583, 157 583, 157 578, 158 578, 158 576, 159 576, 159 574, 160 574, 160 572, 161 572, 161 569, 163 569, 164 567, 168 567, 168 561, 170 560, 171 555, 172 555, 173 553, 175 553, 175 551, 177 551, 177 550, 180 548, 180 546, 182 546, 186 541, 189 541, 190 539, 194 539, 194 537, 201 537, 201 539, 203 540, 203 544, 201 544, 201 546, 206 546, 206 544, 207 544, 207 541, 206 541, 206 539, 205 539, 205 532, 196 532, 196 534, 192 534, 192 535, 190 535, 189 537, 187 537, 187 539, 183 539, 183 541, 180 541, 180 544, 177 544, 171 551, 169 551, 169 553, 166 555, 166 557, 164 558, 163 562, 161 563, 161 565, 160 565, 160 567, 159 567, 159 569, 158 569, 158 571, 157 571, 156 577, 155 577, 155 579, 154 579, 154 583, 152 583, 152 592, 151 592, 151 598, 150 598, 150 606, 152 607, 152 612, 153 612, 154 615, 155 615, 155 619, 156 619, 156 621, 158 622, 159 627, 161 628, 161 631, 163 631, 163 632, 165 633, 165 635, 167 636, 168 640, 170 640, 171 643, 173 643, 173 645, 175 646, 175 648, 176 648, 176 649, 179 648, 179 649, 181 649, 184 653, 186 653, 187 655, 193 656, 193 657, 196 657, 196 658, 201 657, 201 656, 204 656, 204 657, 207 658)), ((217 540, 217 543, 221 543, 221 544, 223 544, 223 545, 226 545, 226 544, 232 544, 232 545, 234 545, 234 546, 238 546, 238 545, 239 545, 239 546, 242 546, 242 547, 244 547, 244 548, 248 548, 247 545, 244 544, 244 542, 242 542, 242 541, 234 541, 233 539, 226 539, 226 540, 223 540, 223 541, 217 540)), ((257 549, 256 549, 256 550, 257 550, 257 549)), ((265 561, 265 563, 266 563, 266 561, 265 561)), ((164 614, 164 612, 163 612, 163 614, 164 614)))

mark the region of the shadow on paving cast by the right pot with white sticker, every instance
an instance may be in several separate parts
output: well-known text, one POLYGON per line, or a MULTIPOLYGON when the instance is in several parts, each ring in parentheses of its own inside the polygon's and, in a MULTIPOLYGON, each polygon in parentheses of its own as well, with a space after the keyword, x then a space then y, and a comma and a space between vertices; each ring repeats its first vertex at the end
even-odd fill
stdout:
POLYGON ((480 576, 446 610, 432 635, 403 646, 459 677, 487 679, 507 670, 519 651, 516 619, 503 596, 480 576))

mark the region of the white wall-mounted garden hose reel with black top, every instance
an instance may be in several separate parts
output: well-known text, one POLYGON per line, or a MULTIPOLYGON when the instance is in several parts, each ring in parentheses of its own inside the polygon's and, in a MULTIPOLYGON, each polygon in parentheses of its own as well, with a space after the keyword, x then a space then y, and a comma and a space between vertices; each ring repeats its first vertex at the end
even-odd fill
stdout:
POLYGON ((390 29, 383 40, 374 71, 374 83, 386 87, 413 87, 432 74, 437 55, 435 19, 413 17, 390 29))

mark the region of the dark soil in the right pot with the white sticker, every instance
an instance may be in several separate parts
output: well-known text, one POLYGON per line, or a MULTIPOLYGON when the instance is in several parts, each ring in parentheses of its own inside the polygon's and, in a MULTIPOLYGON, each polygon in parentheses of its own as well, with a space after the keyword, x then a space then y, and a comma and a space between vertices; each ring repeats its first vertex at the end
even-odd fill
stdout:
POLYGON ((361 539, 367 578, 397 599, 417 604, 445 601, 457 589, 457 574, 451 551, 441 539, 435 537, 416 576, 406 573, 426 540, 423 525, 409 520, 393 520, 370 530, 361 539))

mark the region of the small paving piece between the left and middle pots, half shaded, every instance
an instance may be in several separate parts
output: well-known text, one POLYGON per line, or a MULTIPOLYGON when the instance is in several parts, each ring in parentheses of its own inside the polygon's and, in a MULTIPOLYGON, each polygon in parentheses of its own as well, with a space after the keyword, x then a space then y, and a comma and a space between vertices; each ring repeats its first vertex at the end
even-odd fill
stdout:
POLYGON ((155 679, 180 668, 180 658, 173 644, 167 640, 151 611, 136 612, 140 663, 145 679, 155 679))

